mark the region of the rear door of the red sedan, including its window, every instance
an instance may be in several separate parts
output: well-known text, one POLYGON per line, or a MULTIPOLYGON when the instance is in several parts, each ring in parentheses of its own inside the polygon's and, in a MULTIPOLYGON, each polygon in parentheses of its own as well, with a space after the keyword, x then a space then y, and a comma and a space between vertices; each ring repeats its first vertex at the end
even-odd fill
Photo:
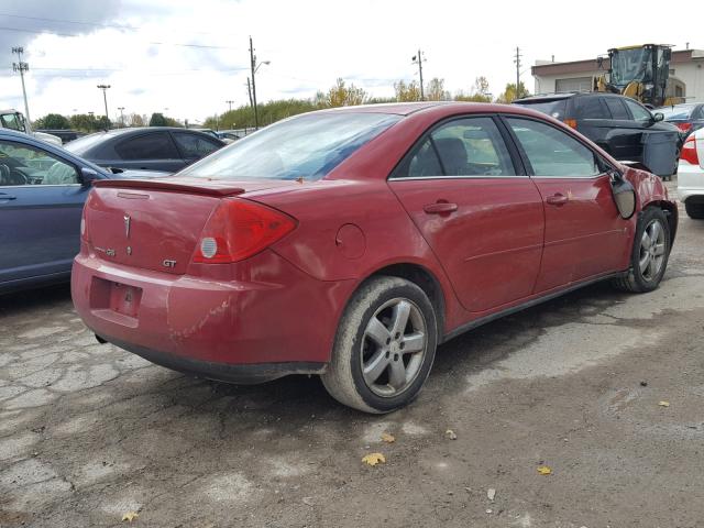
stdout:
POLYGON ((458 298, 484 312, 531 294, 543 238, 540 194, 491 117, 446 121, 389 178, 458 298))

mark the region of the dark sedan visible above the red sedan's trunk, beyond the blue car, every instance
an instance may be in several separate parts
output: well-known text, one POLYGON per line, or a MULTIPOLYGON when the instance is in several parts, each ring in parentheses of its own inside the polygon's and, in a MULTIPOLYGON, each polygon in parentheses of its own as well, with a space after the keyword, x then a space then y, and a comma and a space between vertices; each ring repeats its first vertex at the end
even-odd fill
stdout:
POLYGON ((145 127, 97 132, 65 148, 102 167, 175 173, 222 146, 224 142, 202 132, 145 127))

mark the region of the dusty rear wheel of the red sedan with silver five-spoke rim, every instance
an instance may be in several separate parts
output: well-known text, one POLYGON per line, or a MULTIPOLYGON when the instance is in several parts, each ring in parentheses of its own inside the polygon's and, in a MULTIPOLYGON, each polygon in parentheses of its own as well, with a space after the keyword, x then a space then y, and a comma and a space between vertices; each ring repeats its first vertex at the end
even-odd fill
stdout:
POLYGON ((418 396, 437 344, 437 317, 426 293, 403 278, 373 277, 348 304, 321 380, 341 404, 391 413, 418 396))

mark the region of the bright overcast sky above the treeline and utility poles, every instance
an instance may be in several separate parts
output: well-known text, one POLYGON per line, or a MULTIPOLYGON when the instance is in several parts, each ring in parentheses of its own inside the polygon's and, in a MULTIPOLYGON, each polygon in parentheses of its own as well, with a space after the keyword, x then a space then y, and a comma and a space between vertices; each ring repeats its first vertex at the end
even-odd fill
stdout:
MULTIPOLYGON (((530 90, 530 65, 552 55, 575 61, 646 42, 704 47, 697 24, 631 8, 603 0, 0 0, 0 108, 24 108, 12 72, 19 45, 30 64, 32 119, 102 113, 96 85, 109 84, 112 119, 124 107, 191 122, 222 112, 226 100, 248 102, 249 35, 257 58, 271 61, 256 76, 260 101, 312 97, 338 77, 392 96, 394 81, 417 79, 418 48, 426 79, 444 78, 454 92, 483 75, 498 95, 515 81, 516 46, 530 90)), ((701 2, 688 11, 704 20, 701 2)))

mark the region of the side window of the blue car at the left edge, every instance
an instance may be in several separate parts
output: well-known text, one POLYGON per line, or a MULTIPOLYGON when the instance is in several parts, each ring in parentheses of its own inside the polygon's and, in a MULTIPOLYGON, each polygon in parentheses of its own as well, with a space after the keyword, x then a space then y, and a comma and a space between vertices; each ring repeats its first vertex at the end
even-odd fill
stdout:
POLYGON ((78 183, 74 165, 34 146, 0 141, 0 186, 78 183))

